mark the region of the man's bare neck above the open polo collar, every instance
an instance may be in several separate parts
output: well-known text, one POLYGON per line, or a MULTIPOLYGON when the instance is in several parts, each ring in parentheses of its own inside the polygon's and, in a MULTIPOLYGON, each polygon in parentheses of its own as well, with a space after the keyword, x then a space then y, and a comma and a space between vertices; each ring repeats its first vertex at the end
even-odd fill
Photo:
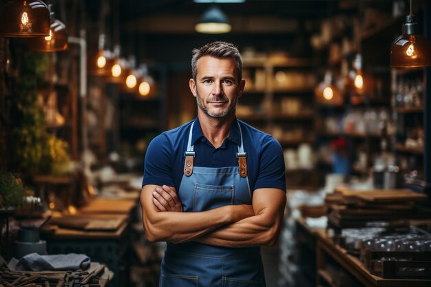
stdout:
POLYGON ((211 118, 211 116, 199 110, 198 118, 202 134, 218 149, 231 133, 233 120, 235 120, 235 113, 233 112, 231 115, 223 118, 211 118))

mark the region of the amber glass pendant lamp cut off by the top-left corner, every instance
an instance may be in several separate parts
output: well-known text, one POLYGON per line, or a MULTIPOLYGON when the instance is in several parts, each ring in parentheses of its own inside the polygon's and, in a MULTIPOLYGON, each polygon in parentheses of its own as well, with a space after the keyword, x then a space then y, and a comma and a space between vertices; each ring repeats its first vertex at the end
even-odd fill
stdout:
POLYGON ((40 0, 12 0, 0 8, 0 36, 50 36, 50 10, 40 0))

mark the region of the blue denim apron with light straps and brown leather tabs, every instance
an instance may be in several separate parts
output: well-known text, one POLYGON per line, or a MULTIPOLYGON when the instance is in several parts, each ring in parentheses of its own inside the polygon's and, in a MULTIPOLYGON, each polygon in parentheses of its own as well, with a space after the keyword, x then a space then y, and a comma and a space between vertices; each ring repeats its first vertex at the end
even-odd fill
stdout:
MULTIPOLYGON (((189 131, 185 171, 178 190, 183 211, 199 212, 225 205, 251 204, 241 127, 241 140, 236 153, 239 166, 213 168, 193 167, 193 125, 194 122, 189 131)), ((265 287, 260 247, 229 248, 198 242, 168 242, 159 286, 265 287)))

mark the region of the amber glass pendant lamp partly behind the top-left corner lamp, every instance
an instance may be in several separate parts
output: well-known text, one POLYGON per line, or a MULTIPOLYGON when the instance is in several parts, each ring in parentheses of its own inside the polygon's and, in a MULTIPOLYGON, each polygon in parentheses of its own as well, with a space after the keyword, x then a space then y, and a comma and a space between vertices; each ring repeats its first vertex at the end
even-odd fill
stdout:
POLYGON ((56 52, 67 50, 66 25, 55 19, 52 5, 49 5, 51 17, 50 36, 37 37, 30 40, 30 49, 36 52, 56 52))

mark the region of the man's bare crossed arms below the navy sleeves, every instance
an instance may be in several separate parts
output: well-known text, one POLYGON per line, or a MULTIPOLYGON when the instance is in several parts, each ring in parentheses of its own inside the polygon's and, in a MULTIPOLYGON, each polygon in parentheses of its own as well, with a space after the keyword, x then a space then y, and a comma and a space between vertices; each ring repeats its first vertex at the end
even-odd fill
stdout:
POLYGON ((286 194, 256 189, 253 205, 227 205, 182 212, 173 187, 147 184, 140 193, 143 224, 150 242, 201 242, 213 246, 271 246, 280 233, 286 194))

